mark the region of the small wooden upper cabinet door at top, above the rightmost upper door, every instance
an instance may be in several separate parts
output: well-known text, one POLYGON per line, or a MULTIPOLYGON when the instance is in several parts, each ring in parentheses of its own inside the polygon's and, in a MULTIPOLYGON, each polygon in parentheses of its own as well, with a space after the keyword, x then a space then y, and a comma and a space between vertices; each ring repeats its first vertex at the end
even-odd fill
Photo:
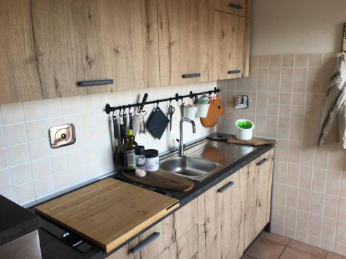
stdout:
POLYGON ((251 0, 214 0, 214 10, 251 17, 251 0))

